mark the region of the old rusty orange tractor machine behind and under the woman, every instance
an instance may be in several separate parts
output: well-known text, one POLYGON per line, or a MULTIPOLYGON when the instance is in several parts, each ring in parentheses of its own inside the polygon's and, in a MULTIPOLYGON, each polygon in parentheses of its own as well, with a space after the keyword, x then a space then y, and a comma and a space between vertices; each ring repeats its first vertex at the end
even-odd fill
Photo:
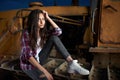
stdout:
MULTIPOLYGON (((76 3, 75 3, 76 4, 76 3)), ((19 66, 20 40, 30 11, 46 10, 61 27, 61 41, 73 56, 90 70, 83 76, 67 73, 67 63, 53 47, 46 64, 55 80, 120 79, 120 0, 91 0, 87 6, 43 6, 33 2, 29 8, 0 12, 0 78, 31 80, 19 66), (6 77, 8 76, 8 77, 6 77)))

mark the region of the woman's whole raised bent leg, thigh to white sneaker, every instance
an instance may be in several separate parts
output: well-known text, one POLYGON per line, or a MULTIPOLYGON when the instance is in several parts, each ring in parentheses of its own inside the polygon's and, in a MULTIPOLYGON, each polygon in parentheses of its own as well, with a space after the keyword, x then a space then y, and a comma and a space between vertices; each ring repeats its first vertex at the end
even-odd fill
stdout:
POLYGON ((41 56, 40 59, 41 61, 43 59, 46 59, 46 57, 48 56, 48 54, 50 53, 53 44, 55 45, 57 51, 63 55, 63 57, 68 61, 68 72, 69 73, 74 73, 74 72, 78 72, 79 74, 82 75, 88 75, 89 71, 83 67, 81 67, 78 63, 77 60, 73 60, 72 57, 70 56, 70 54, 68 53, 67 49, 64 47, 64 45, 62 44, 61 40, 57 37, 57 36, 51 36, 47 43, 45 44, 45 46, 43 47, 42 51, 41 51, 41 56))

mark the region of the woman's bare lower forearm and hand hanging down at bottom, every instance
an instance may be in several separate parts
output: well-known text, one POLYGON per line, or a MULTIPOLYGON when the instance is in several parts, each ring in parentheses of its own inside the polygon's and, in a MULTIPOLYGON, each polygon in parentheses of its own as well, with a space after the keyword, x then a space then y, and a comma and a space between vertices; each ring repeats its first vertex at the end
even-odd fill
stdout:
POLYGON ((47 77, 48 80, 53 80, 53 77, 52 75, 43 67, 41 66, 36 60, 34 57, 30 57, 29 58, 29 62, 34 65, 36 68, 38 68, 40 71, 42 71, 45 76, 47 77))

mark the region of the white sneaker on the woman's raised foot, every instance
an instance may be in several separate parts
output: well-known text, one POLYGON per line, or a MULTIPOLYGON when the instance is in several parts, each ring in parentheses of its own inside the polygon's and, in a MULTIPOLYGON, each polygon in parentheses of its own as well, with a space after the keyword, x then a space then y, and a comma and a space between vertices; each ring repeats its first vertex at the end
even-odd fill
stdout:
POLYGON ((81 75, 89 75, 89 71, 80 66, 77 60, 73 60, 68 66, 68 73, 79 73, 81 75))

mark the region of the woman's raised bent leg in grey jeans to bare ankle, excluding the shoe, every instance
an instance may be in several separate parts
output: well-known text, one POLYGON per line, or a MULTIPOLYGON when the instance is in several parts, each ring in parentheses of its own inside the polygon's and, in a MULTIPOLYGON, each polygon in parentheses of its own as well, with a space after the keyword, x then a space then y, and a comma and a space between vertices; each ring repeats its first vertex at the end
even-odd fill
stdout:
POLYGON ((57 36, 51 36, 47 41, 46 44, 43 46, 43 49, 41 50, 39 57, 40 57, 40 63, 44 64, 44 61, 46 60, 46 58, 49 56, 49 53, 53 47, 53 45, 55 45, 57 51, 63 55, 63 57, 67 60, 67 61, 72 61, 72 57, 70 56, 70 54, 68 53, 67 49, 64 47, 64 45, 62 44, 61 40, 57 37, 57 36))

